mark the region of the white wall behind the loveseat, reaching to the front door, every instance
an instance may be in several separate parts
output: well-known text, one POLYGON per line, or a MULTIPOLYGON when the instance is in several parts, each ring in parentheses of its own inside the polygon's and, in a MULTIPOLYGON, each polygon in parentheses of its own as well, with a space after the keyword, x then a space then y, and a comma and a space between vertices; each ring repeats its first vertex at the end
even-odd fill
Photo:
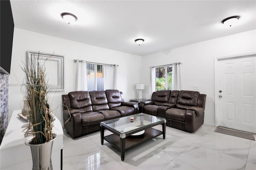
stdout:
POLYGON ((214 125, 214 58, 244 53, 256 53, 256 30, 222 38, 194 43, 142 57, 142 83, 144 97, 149 94, 149 67, 182 62, 180 65, 181 89, 193 90, 199 85, 200 93, 206 94, 205 123, 214 125))

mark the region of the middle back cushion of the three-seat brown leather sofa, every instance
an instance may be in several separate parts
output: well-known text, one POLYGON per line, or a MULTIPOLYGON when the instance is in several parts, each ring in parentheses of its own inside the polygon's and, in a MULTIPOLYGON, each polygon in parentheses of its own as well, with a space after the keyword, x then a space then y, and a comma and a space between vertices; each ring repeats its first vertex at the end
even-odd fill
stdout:
POLYGON ((90 91, 90 97, 93 111, 109 109, 105 91, 90 91))

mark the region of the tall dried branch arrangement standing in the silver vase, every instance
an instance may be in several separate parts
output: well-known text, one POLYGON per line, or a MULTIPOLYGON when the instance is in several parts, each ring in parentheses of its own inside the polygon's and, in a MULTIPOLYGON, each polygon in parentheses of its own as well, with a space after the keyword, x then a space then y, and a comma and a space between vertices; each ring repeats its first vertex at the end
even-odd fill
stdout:
POLYGON ((53 139, 53 115, 47 103, 46 73, 44 65, 39 63, 39 54, 37 59, 22 70, 26 73, 27 78, 23 93, 30 108, 31 125, 28 128, 31 128, 32 132, 28 133, 34 136, 34 144, 42 144, 53 139))

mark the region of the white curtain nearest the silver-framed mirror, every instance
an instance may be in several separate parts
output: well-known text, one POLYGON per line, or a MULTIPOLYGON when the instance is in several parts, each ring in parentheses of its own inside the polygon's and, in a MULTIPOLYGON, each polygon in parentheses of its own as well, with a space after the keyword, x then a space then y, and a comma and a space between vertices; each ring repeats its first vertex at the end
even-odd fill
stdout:
POLYGON ((87 90, 86 61, 76 60, 76 91, 87 90), (79 62, 82 61, 82 62, 79 62))

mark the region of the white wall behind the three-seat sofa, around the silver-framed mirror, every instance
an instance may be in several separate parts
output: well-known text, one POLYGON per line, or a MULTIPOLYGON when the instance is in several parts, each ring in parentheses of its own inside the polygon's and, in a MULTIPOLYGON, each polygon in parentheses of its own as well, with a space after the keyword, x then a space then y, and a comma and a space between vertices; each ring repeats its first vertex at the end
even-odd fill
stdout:
MULTIPOLYGON (((51 109, 56 109, 53 113, 61 121, 62 125, 61 95, 75 91, 76 64, 73 59, 118 64, 117 89, 124 93, 125 101, 134 99, 135 84, 139 83, 140 80, 140 74, 138 73, 141 73, 141 56, 14 28, 9 84, 19 84, 25 79, 25 73, 21 67, 24 66, 22 62, 26 63, 26 51, 54 52, 54 54, 65 55, 65 91, 51 92, 49 95, 51 109)), ((9 87, 9 115, 12 114, 13 110, 22 109, 22 99, 23 94, 19 85, 9 87)))

